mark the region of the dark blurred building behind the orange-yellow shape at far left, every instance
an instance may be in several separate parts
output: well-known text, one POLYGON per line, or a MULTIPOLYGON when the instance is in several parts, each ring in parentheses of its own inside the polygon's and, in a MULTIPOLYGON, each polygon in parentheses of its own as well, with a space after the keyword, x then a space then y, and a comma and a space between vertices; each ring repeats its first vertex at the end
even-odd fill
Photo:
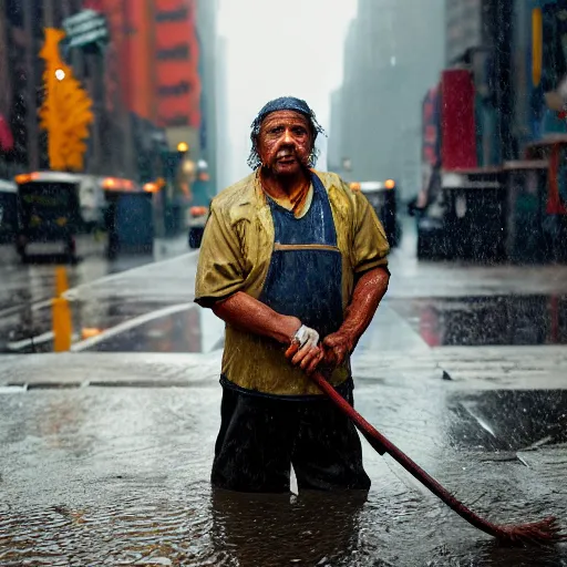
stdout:
MULTIPOLYGON (((0 124, 8 128, 12 144, 0 147, 0 176, 49 168, 47 134, 40 131, 38 109, 43 100, 43 61, 40 50, 44 28, 63 28, 66 19, 84 8, 82 0, 0 0, 0 124)), ((104 105, 104 45, 83 50, 65 38, 61 56, 72 64, 74 75, 93 101, 95 122, 89 140, 86 171, 118 166, 121 128, 113 127, 104 105)), ((6 137, 6 136, 2 136, 6 137)))

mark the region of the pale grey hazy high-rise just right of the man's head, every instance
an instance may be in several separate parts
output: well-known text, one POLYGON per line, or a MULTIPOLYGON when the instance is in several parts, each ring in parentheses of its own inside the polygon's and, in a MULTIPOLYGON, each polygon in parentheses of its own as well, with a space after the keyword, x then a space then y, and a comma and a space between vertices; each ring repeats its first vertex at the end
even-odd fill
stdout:
POLYGON ((444 8, 359 0, 331 104, 330 159, 346 178, 394 178, 403 198, 419 190, 421 102, 443 68, 444 8))

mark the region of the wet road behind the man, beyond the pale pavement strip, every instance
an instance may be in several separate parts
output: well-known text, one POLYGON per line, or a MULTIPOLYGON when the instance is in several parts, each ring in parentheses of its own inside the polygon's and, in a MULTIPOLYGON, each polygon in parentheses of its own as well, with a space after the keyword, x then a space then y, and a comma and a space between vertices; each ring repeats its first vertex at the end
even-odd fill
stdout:
MULTIPOLYGON (((393 277, 384 305, 404 321, 404 337, 412 343, 567 343, 567 267, 455 267, 419 264, 401 254, 392 256, 393 277)), ((198 351, 202 316, 184 312, 193 302, 197 257, 197 252, 188 252, 102 277, 94 277, 102 265, 68 268, 71 289, 65 297, 70 299, 75 348, 198 351), (103 337, 81 344, 85 330, 103 337), (109 333, 114 341, 105 340, 109 333)), ((0 351, 52 350, 51 300, 38 297, 53 292, 54 268, 43 268, 33 267, 21 276, 28 278, 28 287, 18 288, 10 297, 4 290, 6 301, 13 305, 0 310, 0 351)))

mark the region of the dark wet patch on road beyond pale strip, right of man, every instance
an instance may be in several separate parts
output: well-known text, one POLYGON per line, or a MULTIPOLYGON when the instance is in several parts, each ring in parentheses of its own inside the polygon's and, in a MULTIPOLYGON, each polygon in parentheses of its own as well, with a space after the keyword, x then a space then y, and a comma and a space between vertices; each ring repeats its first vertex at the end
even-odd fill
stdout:
POLYGON ((567 344, 567 296, 390 300, 430 347, 567 344))

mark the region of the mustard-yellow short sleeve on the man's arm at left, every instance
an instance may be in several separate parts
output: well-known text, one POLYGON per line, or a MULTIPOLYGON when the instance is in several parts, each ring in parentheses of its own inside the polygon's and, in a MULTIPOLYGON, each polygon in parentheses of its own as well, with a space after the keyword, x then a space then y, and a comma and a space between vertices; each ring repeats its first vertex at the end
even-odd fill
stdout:
POLYGON ((195 278, 195 302, 210 307, 244 287, 244 259, 227 209, 213 202, 205 226, 195 278))

